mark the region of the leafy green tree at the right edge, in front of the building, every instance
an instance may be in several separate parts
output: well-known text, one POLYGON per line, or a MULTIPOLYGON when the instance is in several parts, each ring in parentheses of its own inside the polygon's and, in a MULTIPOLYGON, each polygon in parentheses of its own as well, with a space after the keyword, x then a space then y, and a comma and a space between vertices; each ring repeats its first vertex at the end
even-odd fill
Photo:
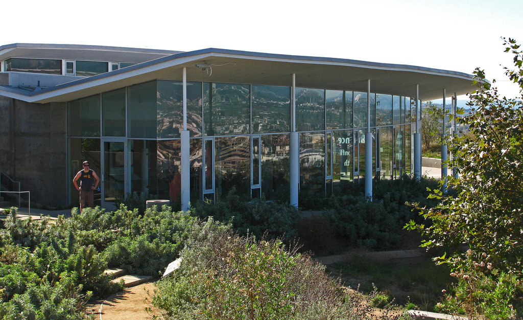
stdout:
MULTIPOLYGON (((430 225, 411 221, 405 226, 422 232, 426 237, 422 247, 453 250, 436 260, 448 263, 459 280, 456 297, 448 301, 468 306, 463 308, 471 315, 485 314, 486 301, 492 299, 492 293, 482 290, 480 284, 490 281, 501 288, 523 280, 523 51, 514 39, 504 38, 504 45, 505 52, 514 54, 515 69, 506 68, 505 73, 519 85, 519 98, 500 97, 496 87, 485 80, 484 71, 476 68, 478 89, 470 94, 468 103, 472 112, 456 119, 469 127, 470 134, 448 138, 456 155, 449 167, 459 171, 458 179, 449 176, 448 186, 457 195, 444 196, 442 190, 433 190, 429 197, 440 203, 418 208, 430 225), (468 250, 459 250, 463 245, 468 250)), ((443 182, 440 186, 444 187, 443 182)), ((509 305, 514 291, 506 292, 496 299, 509 305)))

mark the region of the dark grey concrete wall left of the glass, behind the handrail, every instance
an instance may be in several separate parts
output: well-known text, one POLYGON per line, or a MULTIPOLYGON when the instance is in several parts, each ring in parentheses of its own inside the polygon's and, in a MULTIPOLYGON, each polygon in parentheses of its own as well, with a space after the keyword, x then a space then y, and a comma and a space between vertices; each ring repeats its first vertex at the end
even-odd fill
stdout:
POLYGON ((39 204, 67 204, 66 107, 0 98, 0 170, 39 204))

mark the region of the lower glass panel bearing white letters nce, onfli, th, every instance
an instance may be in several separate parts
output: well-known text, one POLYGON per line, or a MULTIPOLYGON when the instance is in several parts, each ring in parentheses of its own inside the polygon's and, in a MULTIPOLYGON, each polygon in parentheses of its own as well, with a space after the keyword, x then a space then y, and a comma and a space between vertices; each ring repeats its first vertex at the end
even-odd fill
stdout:
POLYGON ((333 192, 340 193, 353 181, 353 130, 333 132, 333 192))

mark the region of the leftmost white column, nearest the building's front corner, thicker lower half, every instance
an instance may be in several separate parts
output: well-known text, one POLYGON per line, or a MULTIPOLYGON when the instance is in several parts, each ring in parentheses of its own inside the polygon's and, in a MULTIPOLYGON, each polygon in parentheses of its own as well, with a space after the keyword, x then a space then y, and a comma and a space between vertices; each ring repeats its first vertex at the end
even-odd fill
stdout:
POLYGON ((181 131, 180 146, 180 202, 181 210, 187 211, 190 202, 190 151, 189 151, 189 130, 187 130, 187 68, 183 68, 183 106, 184 106, 184 130, 181 131))

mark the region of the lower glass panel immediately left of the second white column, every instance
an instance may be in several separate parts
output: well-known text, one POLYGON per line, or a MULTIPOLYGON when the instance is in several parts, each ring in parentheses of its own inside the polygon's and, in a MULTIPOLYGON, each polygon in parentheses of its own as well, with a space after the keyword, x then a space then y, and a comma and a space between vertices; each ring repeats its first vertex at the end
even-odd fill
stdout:
POLYGON ((267 200, 289 202, 290 136, 261 136, 261 192, 267 200))

